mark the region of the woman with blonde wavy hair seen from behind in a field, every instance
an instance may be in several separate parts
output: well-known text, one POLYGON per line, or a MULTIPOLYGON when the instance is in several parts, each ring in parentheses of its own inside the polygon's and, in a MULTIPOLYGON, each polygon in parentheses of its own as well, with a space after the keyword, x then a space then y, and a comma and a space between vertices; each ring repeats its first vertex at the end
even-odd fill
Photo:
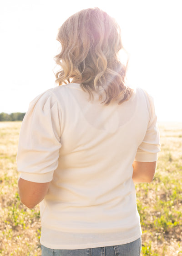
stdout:
POLYGON ((138 256, 134 182, 152 181, 160 150, 152 98, 126 86, 120 28, 104 11, 71 16, 57 40, 61 86, 36 97, 22 123, 20 199, 41 202, 43 256, 138 256))

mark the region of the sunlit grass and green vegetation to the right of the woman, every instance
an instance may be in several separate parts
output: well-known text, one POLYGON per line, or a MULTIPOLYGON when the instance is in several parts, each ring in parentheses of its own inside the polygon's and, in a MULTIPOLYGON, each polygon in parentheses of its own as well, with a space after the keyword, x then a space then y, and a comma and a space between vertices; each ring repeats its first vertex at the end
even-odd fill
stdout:
POLYGON ((143 256, 182 255, 182 123, 160 123, 161 152, 149 184, 136 185, 143 256))

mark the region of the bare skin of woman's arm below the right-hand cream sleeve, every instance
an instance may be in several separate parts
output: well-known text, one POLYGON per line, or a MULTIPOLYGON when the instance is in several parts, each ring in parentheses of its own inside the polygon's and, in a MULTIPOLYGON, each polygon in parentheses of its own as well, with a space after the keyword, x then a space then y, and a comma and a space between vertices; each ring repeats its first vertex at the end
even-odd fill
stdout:
POLYGON ((134 182, 151 182, 156 171, 155 162, 133 162, 133 176, 134 182))

